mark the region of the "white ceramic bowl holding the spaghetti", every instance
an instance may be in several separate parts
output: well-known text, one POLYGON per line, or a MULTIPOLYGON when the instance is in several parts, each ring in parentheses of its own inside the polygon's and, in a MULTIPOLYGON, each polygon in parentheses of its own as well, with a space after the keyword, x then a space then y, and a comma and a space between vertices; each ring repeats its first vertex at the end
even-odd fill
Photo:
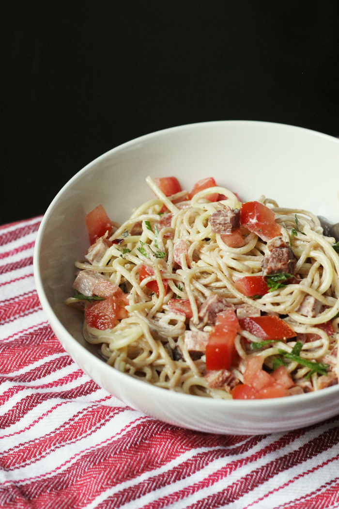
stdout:
POLYGON ((171 424, 212 433, 260 434, 311 425, 338 412, 339 385, 272 400, 212 400, 167 391, 107 365, 82 336, 83 318, 64 305, 74 262, 88 247, 87 212, 102 203, 118 222, 151 198, 145 177, 176 176, 191 189, 214 177, 243 201, 265 194, 280 206, 338 221, 339 140, 266 122, 193 124, 134 139, 88 164, 57 194, 39 229, 34 269, 47 318, 65 350, 99 385, 171 424))

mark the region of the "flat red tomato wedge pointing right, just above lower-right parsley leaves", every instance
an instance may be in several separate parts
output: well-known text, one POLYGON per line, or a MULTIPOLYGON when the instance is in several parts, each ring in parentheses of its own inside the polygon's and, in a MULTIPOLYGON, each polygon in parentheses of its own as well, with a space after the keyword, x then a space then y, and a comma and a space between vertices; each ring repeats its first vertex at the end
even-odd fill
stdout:
POLYGON ((241 318, 239 323, 242 329, 262 340, 286 340, 296 335, 284 320, 275 316, 241 318))

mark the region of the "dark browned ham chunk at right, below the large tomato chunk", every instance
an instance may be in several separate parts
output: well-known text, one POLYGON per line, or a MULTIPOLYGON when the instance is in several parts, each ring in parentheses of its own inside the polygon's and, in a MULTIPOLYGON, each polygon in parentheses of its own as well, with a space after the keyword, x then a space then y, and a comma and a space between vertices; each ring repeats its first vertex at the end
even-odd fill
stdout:
POLYGON ((296 258, 291 247, 281 237, 274 237, 267 242, 269 254, 261 260, 263 276, 272 274, 294 274, 296 258))

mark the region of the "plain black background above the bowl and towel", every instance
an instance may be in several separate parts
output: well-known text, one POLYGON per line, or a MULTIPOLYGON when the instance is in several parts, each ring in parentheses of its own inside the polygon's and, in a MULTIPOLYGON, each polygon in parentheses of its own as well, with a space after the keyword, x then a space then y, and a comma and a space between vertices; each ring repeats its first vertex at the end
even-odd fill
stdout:
POLYGON ((0 224, 85 164, 209 120, 339 135, 337 0, 3 2, 0 224))

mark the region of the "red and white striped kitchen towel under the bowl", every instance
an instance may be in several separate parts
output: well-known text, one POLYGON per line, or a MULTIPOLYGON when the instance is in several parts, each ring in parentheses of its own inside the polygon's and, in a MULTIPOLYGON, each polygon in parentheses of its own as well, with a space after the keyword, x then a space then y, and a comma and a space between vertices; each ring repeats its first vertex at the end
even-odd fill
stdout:
POLYGON ((1 507, 339 507, 339 417, 273 435, 198 433, 132 410, 90 380, 37 296, 40 220, 0 228, 1 507))

